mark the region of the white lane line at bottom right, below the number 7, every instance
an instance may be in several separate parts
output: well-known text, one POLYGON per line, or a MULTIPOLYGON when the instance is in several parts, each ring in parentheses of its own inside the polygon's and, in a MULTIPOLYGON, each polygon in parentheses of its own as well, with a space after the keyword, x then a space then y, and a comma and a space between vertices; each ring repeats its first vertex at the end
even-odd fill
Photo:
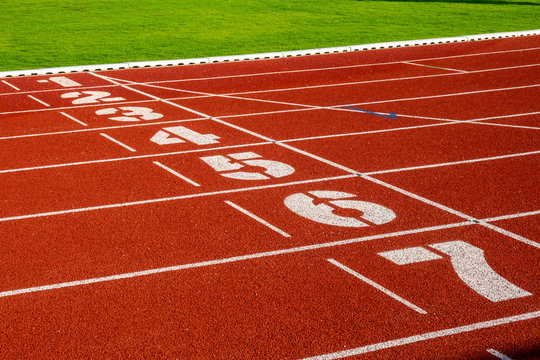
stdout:
POLYGON ((409 337, 404 337, 401 339, 395 339, 390 341, 384 341, 377 344, 371 344, 366 346, 361 346, 349 350, 338 351, 334 353, 324 354, 305 358, 304 360, 334 360, 334 359, 343 359, 349 356, 367 354, 374 351, 390 349, 397 346, 403 346, 407 344, 414 344, 421 341, 432 340, 437 338, 442 338, 446 336, 452 336, 457 334, 463 334, 475 330, 488 329, 496 326, 511 324, 518 321, 532 320, 540 317, 540 311, 533 311, 525 314, 508 316, 503 318, 498 318, 489 321, 482 321, 474 324, 469 324, 465 326, 458 326, 455 328, 432 331, 424 334, 413 335, 409 337))

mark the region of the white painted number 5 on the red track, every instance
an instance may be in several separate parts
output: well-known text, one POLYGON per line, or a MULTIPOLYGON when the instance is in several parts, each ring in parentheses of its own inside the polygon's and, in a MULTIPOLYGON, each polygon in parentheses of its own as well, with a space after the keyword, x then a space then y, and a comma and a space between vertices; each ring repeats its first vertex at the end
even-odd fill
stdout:
POLYGON ((205 156, 201 160, 210 165, 214 170, 220 172, 221 176, 236 180, 268 180, 294 173, 292 166, 279 161, 261 159, 261 156, 254 152, 228 154, 227 156, 205 156), (246 165, 262 167, 264 168, 264 173, 236 171, 244 168, 246 165))

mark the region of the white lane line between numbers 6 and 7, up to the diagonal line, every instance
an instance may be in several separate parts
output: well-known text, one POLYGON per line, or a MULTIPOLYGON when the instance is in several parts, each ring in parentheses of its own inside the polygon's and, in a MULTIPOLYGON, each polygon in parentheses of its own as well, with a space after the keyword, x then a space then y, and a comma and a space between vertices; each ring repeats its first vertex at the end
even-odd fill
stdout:
POLYGON ((287 249, 272 250, 272 251, 266 251, 266 252, 260 252, 260 253, 253 253, 253 254, 247 254, 247 255, 240 255, 240 256, 233 256, 233 257, 227 257, 227 258, 221 258, 221 259, 215 259, 215 260, 183 264, 183 265, 154 268, 154 269, 143 270, 143 271, 135 271, 135 272, 122 273, 122 274, 103 276, 103 277, 97 277, 97 278, 89 278, 89 279, 84 279, 84 280, 68 281, 68 282, 62 282, 62 283, 56 283, 56 284, 50 284, 50 285, 34 286, 34 287, 29 287, 29 288, 17 289, 17 290, 8 290, 8 291, 0 292, 0 298, 40 292, 40 291, 56 290, 56 289, 62 289, 62 288, 67 288, 67 287, 90 285, 90 284, 101 283, 101 282, 116 281, 116 280, 121 280, 121 279, 129 279, 129 278, 161 274, 161 273, 180 271, 180 270, 186 270, 186 269, 216 266, 216 265, 234 263, 234 262, 239 262, 239 261, 261 259, 261 258, 278 256, 278 255, 285 255, 285 254, 306 252, 306 251, 312 251, 312 250, 318 250, 318 249, 324 249, 324 248, 331 248, 331 247, 336 247, 336 246, 356 244, 356 243, 365 242, 365 241, 386 239, 389 237, 419 234, 419 233, 424 233, 424 232, 431 232, 431 231, 450 229, 450 228, 456 228, 456 227, 461 227, 461 226, 471 226, 471 225, 474 225, 474 223, 460 222, 460 223, 445 224, 445 225, 439 225, 439 226, 430 226, 430 227, 425 227, 425 228, 403 230, 403 231, 397 231, 397 232, 386 233, 386 234, 378 234, 378 235, 353 238, 353 239, 348 239, 348 240, 339 240, 339 241, 332 241, 332 242, 327 242, 327 243, 304 245, 304 246, 298 246, 298 247, 287 248, 287 249))

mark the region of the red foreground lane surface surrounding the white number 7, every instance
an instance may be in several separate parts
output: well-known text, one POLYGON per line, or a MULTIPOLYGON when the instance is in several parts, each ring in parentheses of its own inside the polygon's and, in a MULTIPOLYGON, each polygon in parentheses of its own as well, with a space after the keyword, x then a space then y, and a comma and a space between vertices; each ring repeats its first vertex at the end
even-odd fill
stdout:
MULTIPOLYGON (((504 237, 476 226, 466 233, 501 276, 539 290, 534 276, 520 271, 537 254, 519 246, 507 251, 504 237)), ((302 358, 536 311, 536 295, 485 299, 457 278, 448 259, 397 266, 377 255, 456 236, 463 229, 8 297, 1 336, 13 354, 34 357, 86 357, 99 349, 107 356, 302 358), (404 308, 329 257, 420 300, 428 314, 404 308)))

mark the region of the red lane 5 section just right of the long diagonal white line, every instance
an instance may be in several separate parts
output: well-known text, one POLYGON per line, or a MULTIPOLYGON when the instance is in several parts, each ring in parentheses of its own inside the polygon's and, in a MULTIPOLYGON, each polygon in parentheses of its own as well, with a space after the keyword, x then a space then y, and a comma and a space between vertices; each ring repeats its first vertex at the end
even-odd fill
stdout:
MULTIPOLYGON (((290 144, 360 172, 372 172, 538 151, 536 131, 454 123, 290 144)), ((489 166, 489 162, 479 166, 489 166)), ((448 167, 449 172, 454 170, 448 167)))

